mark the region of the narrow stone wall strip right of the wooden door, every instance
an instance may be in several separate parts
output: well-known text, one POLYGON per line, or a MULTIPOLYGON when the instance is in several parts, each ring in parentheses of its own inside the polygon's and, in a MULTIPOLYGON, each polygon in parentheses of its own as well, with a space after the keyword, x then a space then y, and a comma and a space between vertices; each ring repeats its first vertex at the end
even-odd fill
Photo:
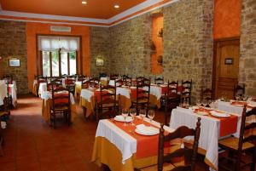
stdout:
POLYGON ((256 96, 256 1, 242 0, 239 83, 256 96))

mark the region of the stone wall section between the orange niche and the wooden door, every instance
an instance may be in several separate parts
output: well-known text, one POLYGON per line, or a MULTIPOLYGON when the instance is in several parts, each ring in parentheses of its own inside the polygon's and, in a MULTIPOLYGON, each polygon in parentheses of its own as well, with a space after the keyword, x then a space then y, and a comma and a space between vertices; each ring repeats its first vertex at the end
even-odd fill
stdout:
POLYGON ((212 1, 181 0, 164 8, 163 75, 193 80, 192 96, 212 87, 212 1))

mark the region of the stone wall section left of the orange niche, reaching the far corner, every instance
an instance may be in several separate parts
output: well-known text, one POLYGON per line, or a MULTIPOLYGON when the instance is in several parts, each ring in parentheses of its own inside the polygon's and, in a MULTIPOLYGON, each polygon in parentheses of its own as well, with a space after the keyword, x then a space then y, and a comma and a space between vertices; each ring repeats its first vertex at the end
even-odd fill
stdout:
POLYGON ((150 74, 151 31, 150 14, 110 27, 110 59, 114 73, 134 76, 150 74))

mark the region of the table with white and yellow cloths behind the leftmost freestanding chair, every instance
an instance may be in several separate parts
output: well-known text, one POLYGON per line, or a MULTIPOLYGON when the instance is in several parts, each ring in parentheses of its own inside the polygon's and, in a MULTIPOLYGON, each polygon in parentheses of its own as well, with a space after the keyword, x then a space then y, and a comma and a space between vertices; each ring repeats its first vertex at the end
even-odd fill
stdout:
MULTIPOLYGON (((46 123, 50 123, 50 108, 52 105, 52 93, 50 91, 44 91, 41 94, 42 99, 42 116, 44 117, 44 121, 46 123)), ((70 105, 71 105, 71 122, 76 117, 77 110, 75 105, 75 100, 73 94, 70 93, 70 105)))

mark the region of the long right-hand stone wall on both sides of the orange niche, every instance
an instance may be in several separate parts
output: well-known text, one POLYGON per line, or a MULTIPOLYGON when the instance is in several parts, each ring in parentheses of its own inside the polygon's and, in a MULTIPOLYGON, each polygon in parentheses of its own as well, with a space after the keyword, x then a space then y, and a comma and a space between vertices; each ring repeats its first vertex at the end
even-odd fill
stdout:
MULTIPOLYGON (((192 95, 212 86, 212 14, 208 0, 180 0, 162 9, 164 15, 163 76, 170 80, 193 79, 192 95)), ((150 13, 110 27, 113 71, 151 74, 150 13)))

